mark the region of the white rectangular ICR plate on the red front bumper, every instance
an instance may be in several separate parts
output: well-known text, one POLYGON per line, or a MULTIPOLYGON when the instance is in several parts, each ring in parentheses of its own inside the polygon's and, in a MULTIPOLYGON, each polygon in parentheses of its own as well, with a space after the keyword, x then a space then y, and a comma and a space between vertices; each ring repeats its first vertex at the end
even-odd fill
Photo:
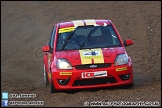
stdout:
POLYGON ((82 78, 96 78, 107 76, 107 71, 96 71, 96 72, 83 72, 81 73, 82 78))

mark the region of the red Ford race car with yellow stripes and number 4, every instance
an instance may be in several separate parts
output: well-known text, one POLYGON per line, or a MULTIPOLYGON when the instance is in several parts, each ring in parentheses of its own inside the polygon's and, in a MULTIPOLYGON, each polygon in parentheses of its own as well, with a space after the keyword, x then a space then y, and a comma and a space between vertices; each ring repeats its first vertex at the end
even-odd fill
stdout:
POLYGON ((44 52, 44 81, 58 90, 133 86, 132 60, 110 20, 86 19, 54 25, 44 52))

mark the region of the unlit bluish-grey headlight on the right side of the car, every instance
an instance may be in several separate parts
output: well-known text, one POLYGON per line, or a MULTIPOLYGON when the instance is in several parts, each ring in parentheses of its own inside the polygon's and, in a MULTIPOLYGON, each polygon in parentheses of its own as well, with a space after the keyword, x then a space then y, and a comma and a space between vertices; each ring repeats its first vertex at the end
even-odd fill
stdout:
POLYGON ((120 54, 116 57, 114 65, 123 65, 128 63, 128 56, 126 54, 120 54))

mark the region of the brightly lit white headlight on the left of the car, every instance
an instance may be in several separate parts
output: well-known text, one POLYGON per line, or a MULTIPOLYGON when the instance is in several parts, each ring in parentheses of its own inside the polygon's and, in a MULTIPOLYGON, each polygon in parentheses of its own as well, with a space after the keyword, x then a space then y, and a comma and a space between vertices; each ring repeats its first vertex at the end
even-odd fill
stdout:
POLYGON ((71 64, 66 59, 58 59, 57 60, 57 68, 58 69, 72 69, 71 64))

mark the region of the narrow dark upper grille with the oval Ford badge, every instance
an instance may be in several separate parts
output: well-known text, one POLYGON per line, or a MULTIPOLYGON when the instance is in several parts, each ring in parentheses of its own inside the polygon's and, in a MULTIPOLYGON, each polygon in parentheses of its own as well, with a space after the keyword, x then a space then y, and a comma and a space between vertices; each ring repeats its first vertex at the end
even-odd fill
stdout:
POLYGON ((77 70, 83 70, 83 69, 96 69, 96 68, 107 68, 111 67, 111 63, 102 63, 102 64, 86 64, 86 65, 76 65, 75 68, 77 70), (97 67, 91 67, 91 65, 96 65, 97 67))

